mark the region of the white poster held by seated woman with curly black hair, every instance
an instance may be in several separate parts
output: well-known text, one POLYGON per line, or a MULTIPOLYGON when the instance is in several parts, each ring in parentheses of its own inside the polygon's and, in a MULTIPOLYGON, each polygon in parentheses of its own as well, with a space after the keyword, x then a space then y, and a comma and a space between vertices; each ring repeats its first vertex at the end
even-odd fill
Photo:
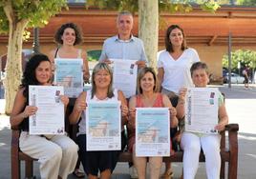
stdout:
POLYGON ((37 107, 30 116, 30 134, 64 134, 64 105, 60 101, 63 87, 30 86, 29 105, 37 107))

